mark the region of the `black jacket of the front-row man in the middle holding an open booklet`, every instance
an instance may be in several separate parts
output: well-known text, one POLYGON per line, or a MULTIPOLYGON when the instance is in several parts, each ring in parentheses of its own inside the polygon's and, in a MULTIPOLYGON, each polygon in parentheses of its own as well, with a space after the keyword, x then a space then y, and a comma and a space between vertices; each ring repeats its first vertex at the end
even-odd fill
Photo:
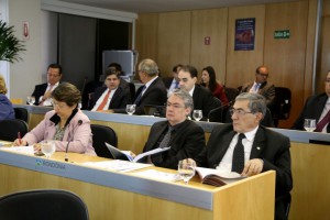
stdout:
MULTIPOLYGON (((167 128, 168 121, 154 123, 143 152, 158 147, 157 142, 167 128)), ((186 120, 174 127, 174 129, 168 144, 170 150, 161 153, 162 160, 155 163, 156 166, 177 169, 179 161, 184 158, 195 160, 205 147, 204 130, 194 121, 186 120)))

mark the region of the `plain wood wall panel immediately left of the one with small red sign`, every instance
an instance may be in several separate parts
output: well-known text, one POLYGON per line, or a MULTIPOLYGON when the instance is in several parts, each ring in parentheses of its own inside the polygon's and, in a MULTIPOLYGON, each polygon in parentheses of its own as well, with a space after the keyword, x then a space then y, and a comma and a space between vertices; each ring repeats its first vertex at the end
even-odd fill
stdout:
POLYGON ((189 64, 190 13, 160 13, 157 64, 162 76, 172 76, 172 68, 177 64, 189 64))

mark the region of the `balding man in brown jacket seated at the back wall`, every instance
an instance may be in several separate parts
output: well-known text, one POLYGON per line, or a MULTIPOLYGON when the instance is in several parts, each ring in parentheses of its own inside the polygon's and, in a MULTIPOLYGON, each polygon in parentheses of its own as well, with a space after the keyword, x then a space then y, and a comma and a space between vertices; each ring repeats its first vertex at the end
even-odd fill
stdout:
POLYGON ((255 70, 255 80, 242 86, 241 92, 260 94, 265 97, 266 105, 271 112, 275 100, 275 86, 267 81, 270 74, 266 66, 258 66, 255 70))

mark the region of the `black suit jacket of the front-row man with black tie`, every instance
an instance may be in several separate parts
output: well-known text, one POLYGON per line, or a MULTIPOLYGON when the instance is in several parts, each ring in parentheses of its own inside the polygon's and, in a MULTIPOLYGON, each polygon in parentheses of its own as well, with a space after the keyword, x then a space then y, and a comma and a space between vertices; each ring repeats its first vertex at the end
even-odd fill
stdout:
MULTIPOLYGON (((215 127, 207 147, 196 160, 199 166, 216 168, 224 156, 229 144, 234 136, 232 124, 221 124, 215 127)), ((256 131, 250 160, 262 158, 264 162, 263 170, 276 172, 276 202, 275 219, 285 219, 283 200, 289 195, 293 188, 290 142, 287 136, 260 125, 256 131)))

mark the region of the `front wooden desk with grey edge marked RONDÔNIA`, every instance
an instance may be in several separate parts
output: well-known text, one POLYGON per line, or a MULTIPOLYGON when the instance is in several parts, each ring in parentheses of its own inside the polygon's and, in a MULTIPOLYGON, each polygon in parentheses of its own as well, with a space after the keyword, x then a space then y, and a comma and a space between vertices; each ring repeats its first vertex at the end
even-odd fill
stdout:
POLYGON ((223 187, 201 185, 197 178, 186 186, 79 164, 105 158, 70 153, 69 160, 75 163, 63 162, 63 153, 46 160, 0 151, 0 195, 35 188, 67 189, 79 195, 90 219, 98 220, 274 218, 275 172, 223 187))

